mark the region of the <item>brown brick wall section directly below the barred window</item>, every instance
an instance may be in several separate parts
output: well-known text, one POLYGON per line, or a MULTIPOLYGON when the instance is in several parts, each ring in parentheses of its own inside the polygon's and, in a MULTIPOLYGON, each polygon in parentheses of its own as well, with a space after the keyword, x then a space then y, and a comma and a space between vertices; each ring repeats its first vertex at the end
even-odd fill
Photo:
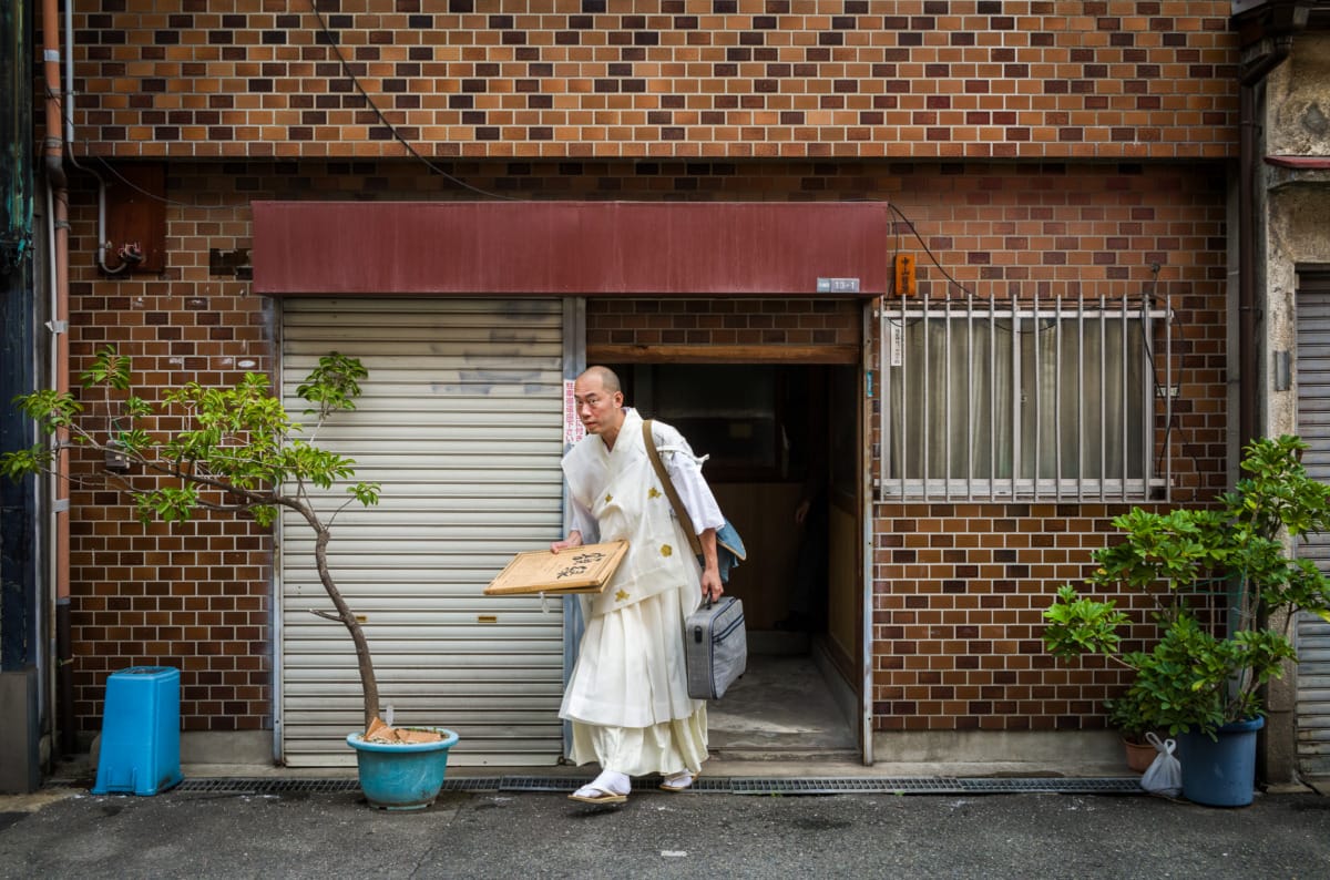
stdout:
MULTIPOLYGON (((883 505, 874 546, 878 730, 1101 728, 1129 679, 1099 659, 1059 663, 1041 614, 1089 573, 1111 521, 1101 504, 883 505)), ((1136 597, 1119 597, 1142 615, 1136 597)), ((1148 627, 1133 633, 1134 647, 1148 627)))

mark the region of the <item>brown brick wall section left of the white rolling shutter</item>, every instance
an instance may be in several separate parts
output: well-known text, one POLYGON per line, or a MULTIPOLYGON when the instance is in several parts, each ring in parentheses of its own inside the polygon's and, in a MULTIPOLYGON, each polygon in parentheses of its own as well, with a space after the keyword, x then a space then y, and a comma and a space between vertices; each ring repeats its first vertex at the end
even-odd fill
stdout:
MULTIPOLYGON (((243 210, 172 206, 170 270, 161 276, 97 276, 96 203, 70 207, 70 376, 114 344, 133 358, 154 400, 185 382, 230 384, 273 364, 262 300, 247 284, 209 276, 207 247, 247 235, 243 210)), ((217 199, 188 187, 190 202, 217 199)), ((108 412, 82 392, 93 417, 108 412)), ((76 464, 78 464, 76 461, 76 464)), ((84 461, 82 468, 93 463, 84 461)), ((142 476, 134 476, 144 480, 142 476)), ((70 495, 70 622, 74 711, 100 728, 106 675, 137 665, 181 670, 184 730, 271 728, 271 541, 265 529, 201 513, 190 522, 144 528, 112 492, 70 495)))

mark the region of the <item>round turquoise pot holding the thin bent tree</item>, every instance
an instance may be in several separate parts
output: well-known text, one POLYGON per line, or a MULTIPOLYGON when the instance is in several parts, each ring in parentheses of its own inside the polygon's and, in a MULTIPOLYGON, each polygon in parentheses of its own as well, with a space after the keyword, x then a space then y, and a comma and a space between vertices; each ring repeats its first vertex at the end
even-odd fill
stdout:
POLYGON ((443 734, 436 743, 367 743, 351 734, 347 744, 355 750, 360 771, 360 791, 370 806, 382 810, 424 810, 439 796, 448 768, 448 750, 458 734, 443 727, 419 727, 443 734))

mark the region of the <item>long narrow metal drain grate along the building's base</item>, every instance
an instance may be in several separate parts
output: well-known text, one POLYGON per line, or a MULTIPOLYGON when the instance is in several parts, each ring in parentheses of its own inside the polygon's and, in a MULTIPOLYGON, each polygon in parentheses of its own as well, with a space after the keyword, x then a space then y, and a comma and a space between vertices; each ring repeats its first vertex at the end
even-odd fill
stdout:
MULTIPOLYGON (((443 783, 444 791, 575 791, 583 779, 567 776, 452 776, 443 783)), ((640 791, 654 791, 658 776, 648 776, 636 783, 640 791)), ((721 795, 1138 795, 1140 782, 1129 779, 1076 779, 1076 778, 988 778, 956 779, 950 776, 920 778, 810 778, 774 779, 759 776, 704 776, 693 783, 694 792, 721 795)), ((185 779, 173 791, 281 795, 281 794, 346 794, 359 792, 355 779, 185 779)))

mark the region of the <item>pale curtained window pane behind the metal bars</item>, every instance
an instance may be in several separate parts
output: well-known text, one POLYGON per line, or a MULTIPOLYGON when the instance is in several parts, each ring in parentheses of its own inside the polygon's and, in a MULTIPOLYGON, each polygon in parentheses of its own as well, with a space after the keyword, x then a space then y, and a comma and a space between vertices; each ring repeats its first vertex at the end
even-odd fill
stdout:
POLYGON ((1140 316, 938 310, 896 323, 891 479, 1128 480, 1149 473, 1153 388, 1140 316))

